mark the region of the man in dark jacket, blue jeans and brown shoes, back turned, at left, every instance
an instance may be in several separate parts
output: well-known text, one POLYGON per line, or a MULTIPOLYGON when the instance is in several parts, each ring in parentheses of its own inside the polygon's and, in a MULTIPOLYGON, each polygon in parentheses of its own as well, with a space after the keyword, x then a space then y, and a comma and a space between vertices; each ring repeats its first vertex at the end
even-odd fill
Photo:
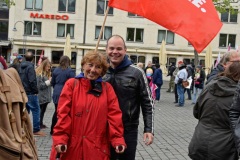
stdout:
POLYGON ((37 79, 32 63, 33 54, 27 52, 25 54, 25 60, 20 64, 19 75, 22 80, 23 87, 28 96, 27 110, 32 112, 33 119, 33 134, 35 136, 45 136, 45 133, 40 131, 40 106, 38 102, 38 88, 37 79))

